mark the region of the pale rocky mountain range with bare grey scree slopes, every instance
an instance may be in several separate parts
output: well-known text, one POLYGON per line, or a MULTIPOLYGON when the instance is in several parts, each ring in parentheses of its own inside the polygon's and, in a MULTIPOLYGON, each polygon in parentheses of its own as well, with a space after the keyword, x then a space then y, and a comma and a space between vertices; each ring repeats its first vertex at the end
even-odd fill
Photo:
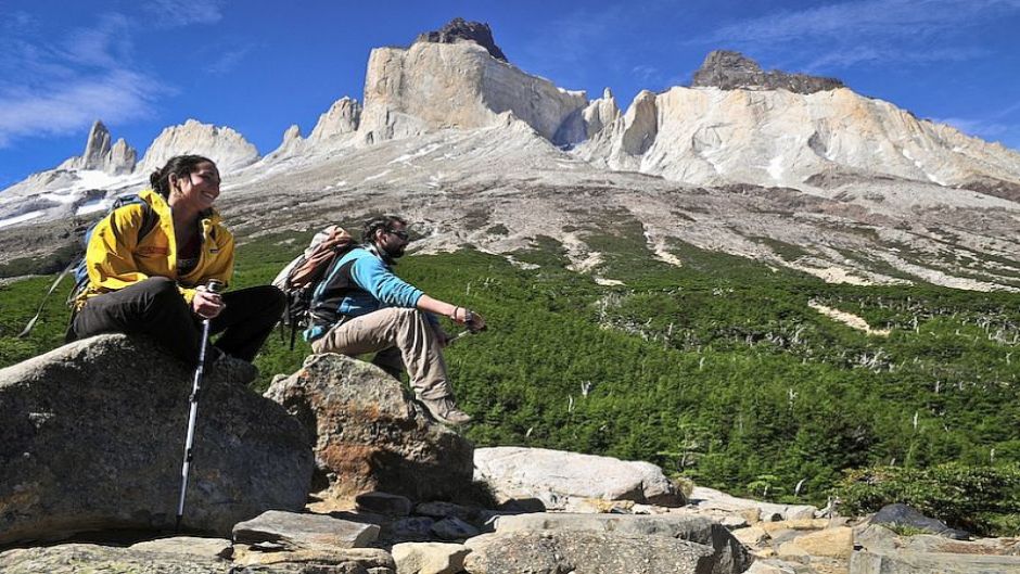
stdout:
MULTIPOLYGON (((364 105, 337 100, 307 138, 291 127, 265 156, 229 128, 192 120, 164 132, 190 139, 161 136, 139 165, 209 154, 226 175, 220 204, 242 216, 245 233, 324 224, 331 213, 403 211, 430 230, 425 250, 467 242, 509 253, 563 237, 574 264, 592 269, 598 250, 563 226, 598 228, 622 209, 641 225, 650 255, 673 264, 681 262, 668 245, 680 240, 827 280, 1020 286, 1020 246, 1010 239, 1020 153, 845 87, 674 87, 643 91, 622 111, 608 89, 588 100, 471 39, 447 39, 373 50, 364 105), (464 233, 476 213, 511 232, 464 233), (754 238, 804 255, 783 257, 754 238)), ((809 84, 777 74, 761 72, 809 84)), ((34 175, 0 193, 0 243, 25 243, 3 224, 84 217, 143 184, 142 171, 98 184, 79 177, 87 170, 34 175)))

